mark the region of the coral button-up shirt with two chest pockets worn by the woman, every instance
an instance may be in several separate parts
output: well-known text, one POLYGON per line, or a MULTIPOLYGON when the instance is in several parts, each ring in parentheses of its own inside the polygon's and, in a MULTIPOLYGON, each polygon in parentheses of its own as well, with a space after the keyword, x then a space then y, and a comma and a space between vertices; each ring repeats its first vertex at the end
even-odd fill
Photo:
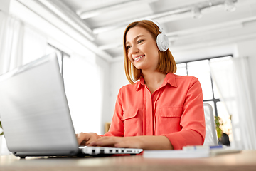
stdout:
POLYGON ((168 73, 153 94, 143 77, 120 88, 110 130, 104 136, 164 135, 177 150, 203 145, 205 134, 198 78, 168 73))

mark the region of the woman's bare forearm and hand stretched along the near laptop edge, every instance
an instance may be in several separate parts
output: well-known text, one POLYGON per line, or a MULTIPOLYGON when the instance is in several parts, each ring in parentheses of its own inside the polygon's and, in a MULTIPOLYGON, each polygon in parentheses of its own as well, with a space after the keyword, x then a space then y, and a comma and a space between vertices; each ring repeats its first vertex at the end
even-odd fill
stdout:
POLYGON ((90 142, 89 146, 129 147, 143 150, 172 150, 173 146, 165 136, 102 137, 90 142))

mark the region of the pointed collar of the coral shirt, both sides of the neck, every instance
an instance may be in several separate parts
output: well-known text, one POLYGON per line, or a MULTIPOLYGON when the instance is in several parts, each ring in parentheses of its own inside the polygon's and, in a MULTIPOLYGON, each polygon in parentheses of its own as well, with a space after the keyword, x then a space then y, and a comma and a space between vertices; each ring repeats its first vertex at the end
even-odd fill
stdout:
MULTIPOLYGON (((167 83, 169 83, 171 86, 177 87, 174 73, 167 73, 166 74, 166 77, 164 78, 164 82, 161 85, 161 87, 166 86, 167 83)), ((146 86, 143 76, 141 76, 141 78, 139 78, 139 81, 137 81, 136 84, 137 84, 137 88, 136 88, 137 91, 140 88, 142 88, 142 86, 146 86)))

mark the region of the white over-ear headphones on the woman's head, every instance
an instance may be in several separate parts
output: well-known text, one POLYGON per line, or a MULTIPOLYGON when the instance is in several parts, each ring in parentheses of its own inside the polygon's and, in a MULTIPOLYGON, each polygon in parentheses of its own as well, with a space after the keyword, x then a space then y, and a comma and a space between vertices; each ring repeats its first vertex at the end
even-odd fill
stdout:
POLYGON ((151 20, 151 19, 147 19, 147 20, 153 22, 154 24, 156 24, 156 26, 159 27, 159 31, 161 33, 159 33, 159 35, 157 35, 156 37, 156 44, 160 51, 167 51, 167 49, 169 48, 169 40, 166 34, 163 33, 164 28, 162 28, 160 24, 154 20, 151 20))

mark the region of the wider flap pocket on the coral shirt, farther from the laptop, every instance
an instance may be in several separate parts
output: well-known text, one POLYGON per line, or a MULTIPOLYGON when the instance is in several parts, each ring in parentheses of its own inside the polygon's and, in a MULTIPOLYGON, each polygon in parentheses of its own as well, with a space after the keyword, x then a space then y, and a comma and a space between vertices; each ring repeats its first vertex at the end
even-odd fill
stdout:
POLYGON ((166 107, 156 110, 156 135, 175 133, 181 130, 182 107, 166 107))

